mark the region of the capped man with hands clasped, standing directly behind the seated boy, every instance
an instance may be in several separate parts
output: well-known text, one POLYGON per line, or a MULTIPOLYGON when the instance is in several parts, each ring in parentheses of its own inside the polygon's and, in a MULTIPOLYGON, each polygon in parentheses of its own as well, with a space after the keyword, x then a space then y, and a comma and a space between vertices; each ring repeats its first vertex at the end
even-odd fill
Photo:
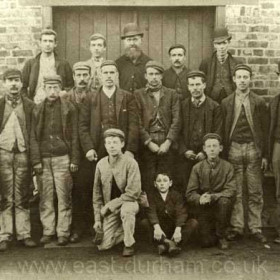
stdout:
POLYGON ((173 167, 173 150, 180 131, 180 105, 175 90, 162 86, 163 66, 157 61, 146 64, 145 88, 135 97, 140 112, 140 160, 143 188, 149 192, 155 175, 173 167))

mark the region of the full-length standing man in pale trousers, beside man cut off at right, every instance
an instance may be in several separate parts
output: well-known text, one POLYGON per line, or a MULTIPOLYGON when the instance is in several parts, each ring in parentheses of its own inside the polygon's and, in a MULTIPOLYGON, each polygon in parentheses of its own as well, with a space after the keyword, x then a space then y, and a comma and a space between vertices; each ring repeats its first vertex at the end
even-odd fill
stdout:
POLYGON ((252 238, 266 242, 262 234, 262 172, 267 169, 268 110, 263 98, 250 90, 252 69, 244 64, 234 68, 236 90, 222 101, 226 157, 234 166, 237 195, 231 216, 229 240, 243 235, 243 195, 248 193, 248 227, 252 238), (246 185, 244 186, 244 182, 246 185))

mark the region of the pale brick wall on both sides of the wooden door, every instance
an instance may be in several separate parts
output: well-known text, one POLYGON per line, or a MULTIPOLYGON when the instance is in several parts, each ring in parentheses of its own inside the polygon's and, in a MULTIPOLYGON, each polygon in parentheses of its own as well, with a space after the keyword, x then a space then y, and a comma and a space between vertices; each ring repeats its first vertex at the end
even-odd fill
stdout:
MULTIPOLYGON (((259 0, 256 6, 227 6, 226 25, 233 37, 231 52, 255 72, 252 82, 255 91, 262 95, 276 94, 280 0, 259 0)), ((26 59, 36 55, 41 28, 40 7, 22 7, 18 0, 0 0, 0 75, 6 67, 21 69, 26 59)))

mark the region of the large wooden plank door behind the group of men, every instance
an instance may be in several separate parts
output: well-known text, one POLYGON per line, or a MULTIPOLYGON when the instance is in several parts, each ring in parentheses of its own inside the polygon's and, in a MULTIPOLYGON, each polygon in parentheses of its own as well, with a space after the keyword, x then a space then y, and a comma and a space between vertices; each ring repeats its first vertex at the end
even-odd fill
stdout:
POLYGON ((143 49, 151 58, 169 66, 168 49, 181 43, 187 49, 187 66, 198 68, 212 52, 215 8, 55 7, 53 25, 58 33, 58 55, 71 64, 90 57, 89 37, 95 32, 107 38, 107 58, 123 52, 121 31, 138 22, 144 31, 143 49))

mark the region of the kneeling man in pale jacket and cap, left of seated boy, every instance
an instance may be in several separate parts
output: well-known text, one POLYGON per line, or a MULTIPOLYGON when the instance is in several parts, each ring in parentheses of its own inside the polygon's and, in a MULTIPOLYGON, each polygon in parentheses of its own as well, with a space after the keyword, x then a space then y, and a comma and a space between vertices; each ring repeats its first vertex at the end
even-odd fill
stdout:
POLYGON ((94 229, 99 250, 124 242, 123 256, 134 254, 135 215, 141 193, 141 177, 137 162, 123 154, 124 133, 119 129, 104 132, 108 156, 96 166, 93 185, 94 229), (103 234, 100 234, 103 232, 103 234))

